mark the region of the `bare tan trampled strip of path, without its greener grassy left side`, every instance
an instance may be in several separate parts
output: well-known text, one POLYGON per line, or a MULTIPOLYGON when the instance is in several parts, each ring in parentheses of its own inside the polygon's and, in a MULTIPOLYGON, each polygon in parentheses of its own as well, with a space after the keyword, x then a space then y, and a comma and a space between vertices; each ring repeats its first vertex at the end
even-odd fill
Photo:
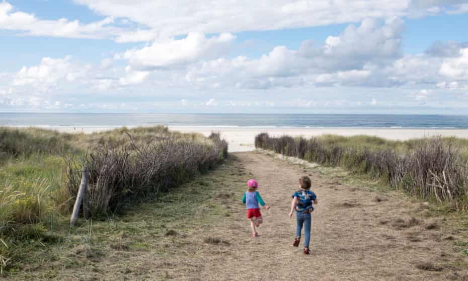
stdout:
MULTIPOLYGON (((345 186, 318 171, 263 154, 237 153, 247 172, 260 184, 270 210, 262 209, 265 223, 251 238, 242 205, 233 206, 232 219, 214 231, 232 242, 214 255, 197 277, 205 280, 441 280, 463 279, 462 269, 451 267, 457 254, 447 233, 426 229, 431 221, 408 224, 421 203, 399 196, 345 186), (292 247, 295 219, 288 218, 290 196, 300 176, 310 174, 320 200, 313 214, 311 255, 292 247), (403 219, 403 221, 399 221, 403 219), (418 268, 428 262, 427 269, 418 268), (430 268, 432 265, 435 268, 430 268), (443 269, 437 268, 442 266, 443 269), (461 270, 461 271, 460 271, 461 270)), ((241 165, 242 165, 241 164, 241 165)), ((438 225, 436 225, 436 228, 438 225)))

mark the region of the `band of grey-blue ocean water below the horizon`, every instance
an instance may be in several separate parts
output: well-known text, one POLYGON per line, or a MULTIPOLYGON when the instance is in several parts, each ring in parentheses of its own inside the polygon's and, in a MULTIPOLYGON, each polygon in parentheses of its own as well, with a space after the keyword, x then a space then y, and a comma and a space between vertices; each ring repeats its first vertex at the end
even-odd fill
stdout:
POLYGON ((0 126, 468 128, 468 115, 0 113, 0 126))

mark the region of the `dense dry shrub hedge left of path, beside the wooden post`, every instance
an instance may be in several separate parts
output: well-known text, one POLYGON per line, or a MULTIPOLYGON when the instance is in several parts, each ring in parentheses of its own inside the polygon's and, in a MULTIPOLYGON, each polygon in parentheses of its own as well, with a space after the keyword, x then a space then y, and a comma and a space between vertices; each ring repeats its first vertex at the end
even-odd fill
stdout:
MULTIPOLYGON (((144 132, 122 130, 121 139, 98 143, 84 157, 93 216, 105 217, 134 201, 152 199, 227 157, 227 143, 216 133, 203 138, 164 127, 155 133, 144 132)), ((73 169, 69 171, 70 193, 76 194, 80 177, 73 169)))

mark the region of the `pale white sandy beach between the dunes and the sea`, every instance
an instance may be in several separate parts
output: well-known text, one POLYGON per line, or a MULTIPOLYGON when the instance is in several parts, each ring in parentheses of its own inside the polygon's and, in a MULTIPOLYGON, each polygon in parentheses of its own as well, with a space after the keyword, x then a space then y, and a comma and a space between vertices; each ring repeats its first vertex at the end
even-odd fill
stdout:
MULTIPOLYGON (((100 126, 48 126, 48 129, 54 129, 61 132, 70 133, 92 133, 97 131, 109 130, 115 127, 100 126)), ((130 126, 131 127, 131 126, 130 126)), ((212 131, 220 132, 222 137, 229 142, 229 151, 252 151, 254 147, 255 136, 260 132, 267 132, 272 136, 291 135, 291 136, 319 136, 322 134, 338 134, 344 136, 350 135, 371 135, 379 136, 393 140, 406 140, 425 136, 457 136, 468 138, 468 129, 404 129, 404 128, 276 128, 276 127, 210 127, 210 126, 169 126, 171 130, 181 132, 198 132, 209 135, 212 131)))

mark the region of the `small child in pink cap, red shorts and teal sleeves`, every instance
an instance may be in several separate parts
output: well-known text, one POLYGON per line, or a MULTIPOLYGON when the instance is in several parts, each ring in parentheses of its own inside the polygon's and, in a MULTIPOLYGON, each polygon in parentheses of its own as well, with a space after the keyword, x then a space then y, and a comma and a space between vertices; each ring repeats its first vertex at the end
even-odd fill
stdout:
POLYGON ((250 220, 250 227, 252 228, 252 236, 257 237, 257 227, 263 223, 262 214, 260 214, 260 207, 258 204, 265 206, 266 209, 269 209, 269 205, 265 205, 260 193, 258 193, 258 182, 254 179, 249 180, 247 183, 249 189, 244 193, 242 197, 242 202, 247 206, 247 219, 250 220))

